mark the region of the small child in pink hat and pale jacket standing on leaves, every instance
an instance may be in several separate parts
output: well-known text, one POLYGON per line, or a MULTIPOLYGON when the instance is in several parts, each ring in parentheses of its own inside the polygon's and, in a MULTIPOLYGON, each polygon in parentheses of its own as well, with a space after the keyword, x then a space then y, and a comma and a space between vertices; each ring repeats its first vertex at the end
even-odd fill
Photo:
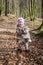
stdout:
POLYGON ((29 47, 28 47, 28 43, 31 42, 31 38, 30 38, 30 33, 29 33, 29 28, 28 26, 25 25, 25 20, 22 17, 19 17, 17 19, 17 28, 16 28, 16 33, 17 33, 17 42, 18 42, 18 51, 21 50, 21 46, 22 43, 19 42, 20 39, 24 39, 24 46, 25 46, 25 51, 28 52, 29 51, 29 47))

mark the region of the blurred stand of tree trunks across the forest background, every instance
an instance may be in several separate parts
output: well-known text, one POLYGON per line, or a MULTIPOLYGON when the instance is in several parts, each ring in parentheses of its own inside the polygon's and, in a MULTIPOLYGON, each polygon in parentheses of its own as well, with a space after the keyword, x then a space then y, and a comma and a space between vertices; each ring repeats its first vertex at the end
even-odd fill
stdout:
POLYGON ((13 14, 34 20, 36 17, 41 18, 41 5, 42 0, 0 0, 0 15, 13 14))

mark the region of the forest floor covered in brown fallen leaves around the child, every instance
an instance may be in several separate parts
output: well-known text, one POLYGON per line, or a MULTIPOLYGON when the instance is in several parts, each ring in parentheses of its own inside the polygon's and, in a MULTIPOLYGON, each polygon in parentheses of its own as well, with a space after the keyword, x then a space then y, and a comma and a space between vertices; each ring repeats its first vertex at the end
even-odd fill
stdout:
POLYGON ((42 20, 37 18, 34 22, 27 22, 32 39, 29 53, 23 51, 24 46, 22 53, 16 51, 16 20, 14 16, 0 17, 0 65, 43 65, 43 27, 38 32, 34 31, 41 25, 42 20))

